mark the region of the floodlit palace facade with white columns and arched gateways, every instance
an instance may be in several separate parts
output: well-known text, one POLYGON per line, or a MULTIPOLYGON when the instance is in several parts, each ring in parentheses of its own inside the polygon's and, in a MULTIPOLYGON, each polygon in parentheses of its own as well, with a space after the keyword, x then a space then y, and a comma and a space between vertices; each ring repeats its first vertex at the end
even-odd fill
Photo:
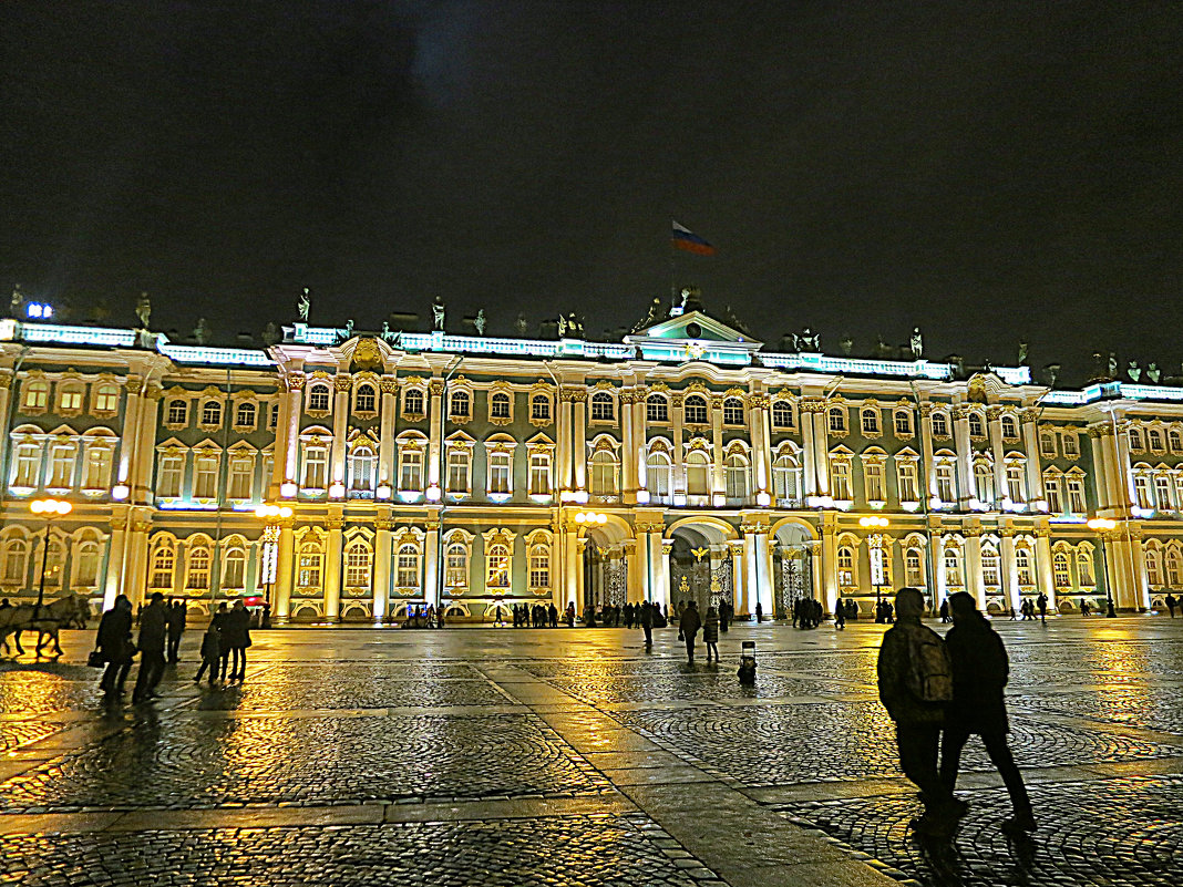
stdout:
POLYGON ((269 349, 2 321, 0 593, 370 622, 1183 588, 1183 389, 774 352, 660 313, 619 343, 296 323, 269 349))

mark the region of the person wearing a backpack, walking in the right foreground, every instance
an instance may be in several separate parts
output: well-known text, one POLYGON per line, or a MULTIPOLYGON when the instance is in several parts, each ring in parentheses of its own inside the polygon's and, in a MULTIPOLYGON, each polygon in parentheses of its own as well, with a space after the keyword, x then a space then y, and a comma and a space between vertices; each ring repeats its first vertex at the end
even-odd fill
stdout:
POLYGON ((877 671, 879 700, 896 721, 900 769, 920 789, 924 815, 912 829, 945 837, 965 812, 937 770, 937 747, 945 706, 952 701, 952 668, 940 635, 920 622, 924 595, 903 588, 896 595, 897 620, 884 634, 877 671))

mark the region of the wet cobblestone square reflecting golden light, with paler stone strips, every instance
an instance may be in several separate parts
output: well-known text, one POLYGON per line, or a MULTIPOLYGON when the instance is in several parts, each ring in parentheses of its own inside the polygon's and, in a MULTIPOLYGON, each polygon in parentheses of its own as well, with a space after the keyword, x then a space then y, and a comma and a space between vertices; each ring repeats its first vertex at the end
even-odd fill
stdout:
POLYGON ((67 632, 0 663, 0 883, 1183 881, 1183 620, 996 627, 1040 828, 1007 839, 971 740, 948 846, 909 835, 873 624, 741 624, 718 666, 675 629, 258 632, 214 688, 190 632, 161 699, 111 707, 67 632))

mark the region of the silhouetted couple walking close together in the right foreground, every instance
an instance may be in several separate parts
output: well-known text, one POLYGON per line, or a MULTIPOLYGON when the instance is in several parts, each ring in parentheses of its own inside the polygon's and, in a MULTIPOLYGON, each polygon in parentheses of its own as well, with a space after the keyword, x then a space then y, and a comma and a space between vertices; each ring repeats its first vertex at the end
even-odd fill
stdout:
POLYGON ((896 622, 879 649, 879 698, 896 723, 900 768, 920 789, 924 804, 924 815, 911 827, 935 839, 956 830, 968 810, 953 795, 961 753, 969 737, 977 734, 1010 794, 1014 815, 1003 828, 1011 834, 1033 831, 1030 798, 1007 745, 1006 647, 972 595, 958 591, 948 600, 953 627, 942 639, 920 622, 924 595, 900 589, 896 622))

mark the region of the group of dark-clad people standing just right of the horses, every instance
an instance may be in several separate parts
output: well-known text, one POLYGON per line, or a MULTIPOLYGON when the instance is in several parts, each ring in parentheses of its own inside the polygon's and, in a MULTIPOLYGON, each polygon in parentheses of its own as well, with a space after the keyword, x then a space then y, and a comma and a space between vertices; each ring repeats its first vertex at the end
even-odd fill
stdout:
MULTIPOLYGON (((138 704, 157 698, 156 688, 164 676, 166 665, 180 661, 187 616, 183 602, 167 603, 164 595, 156 591, 148 606, 140 610, 138 619, 134 619, 128 596, 116 596, 111 609, 99 620, 95 645, 105 666, 99 687, 108 701, 127 692, 124 685, 136 654, 140 654, 140 671, 131 701, 138 704), (138 623, 140 632, 132 640, 134 622, 138 623)), ((220 604, 201 639, 202 665, 194 680, 201 680, 207 668, 211 685, 219 679, 225 680, 227 674, 230 680, 243 680, 246 676, 246 648, 251 646, 250 627, 251 613, 241 601, 235 601, 230 610, 225 603, 220 604), (233 663, 227 671, 230 660, 233 663)))

